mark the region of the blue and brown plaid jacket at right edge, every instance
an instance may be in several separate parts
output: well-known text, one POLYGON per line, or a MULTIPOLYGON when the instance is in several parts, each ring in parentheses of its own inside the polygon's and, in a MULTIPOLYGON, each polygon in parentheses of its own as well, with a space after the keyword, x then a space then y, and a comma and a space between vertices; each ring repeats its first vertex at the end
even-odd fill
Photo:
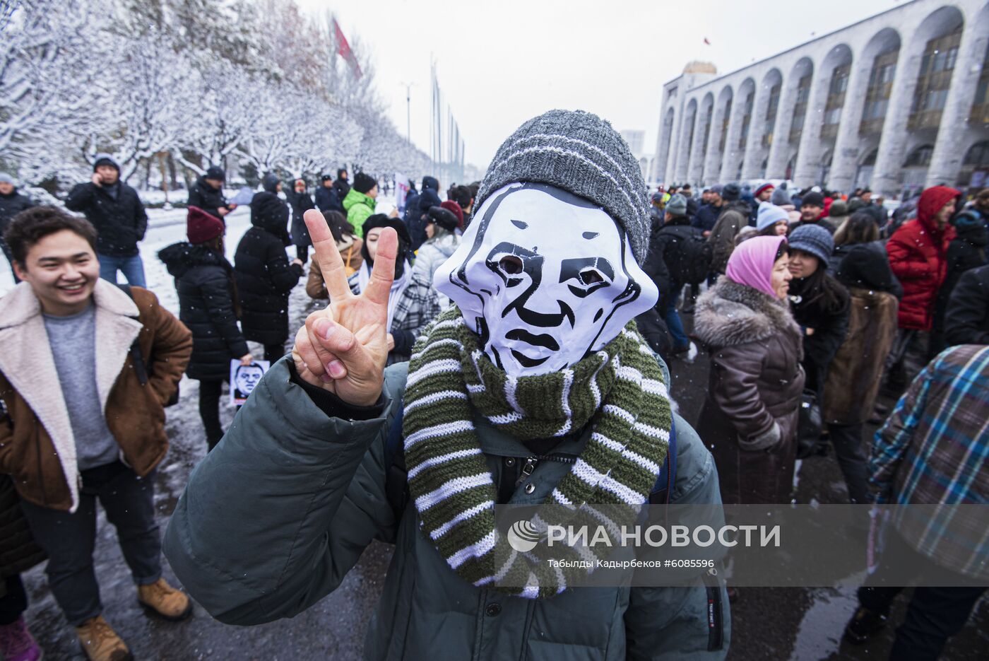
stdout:
POLYGON ((935 358, 875 434, 869 483, 898 508, 894 524, 918 551, 968 576, 989 577, 989 346, 962 344, 935 358))

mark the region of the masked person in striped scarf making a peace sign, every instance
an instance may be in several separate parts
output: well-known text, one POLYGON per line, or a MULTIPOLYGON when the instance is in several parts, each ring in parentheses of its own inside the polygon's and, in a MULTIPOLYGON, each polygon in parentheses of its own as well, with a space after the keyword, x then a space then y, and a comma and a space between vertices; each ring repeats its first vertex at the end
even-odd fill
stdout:
POLYGON ((635 330, 659 296, 639 265, 637 161, 594 115, 550 111, 501 145, 477 208, 434 279, 454 305, 387 368, 398 236, 382 232, 357 296, 307 214, 331 303, 190 476, 172 568, 210 614, 256 624, 318 602, 379 539, 396 552, 365 658, 725 658, 727 597, 706 570, 589 587, 545 561, 566 547, 520 550, 495 521, 502 504, 720 505, 711 455, 635 330))

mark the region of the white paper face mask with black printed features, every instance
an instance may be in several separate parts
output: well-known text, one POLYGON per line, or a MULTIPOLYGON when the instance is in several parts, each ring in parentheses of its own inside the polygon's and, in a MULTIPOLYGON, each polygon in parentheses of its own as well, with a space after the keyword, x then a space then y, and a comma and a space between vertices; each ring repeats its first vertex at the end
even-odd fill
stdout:
POLYGON ((511 376, 577 363, 659 298, 606 212, 532 183, 488 197, 433 283, 511 376))

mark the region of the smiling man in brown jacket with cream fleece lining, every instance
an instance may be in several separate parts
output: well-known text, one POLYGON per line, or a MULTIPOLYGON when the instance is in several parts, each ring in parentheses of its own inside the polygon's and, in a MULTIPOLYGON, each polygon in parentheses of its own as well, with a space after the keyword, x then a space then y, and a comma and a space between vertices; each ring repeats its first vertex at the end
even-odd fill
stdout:
POLYGON ((87 656, 130 659, 101 614, 96 501, 117 528, 137 601, 169 619, 191 614, 161 578, 152 473, 192 335, 151 292, 129 296, 99 279, 87 221, 37 208, 5 239, 24 282, 0 298, 0 473, 13 477, 49 558, 51 592, 87 656))

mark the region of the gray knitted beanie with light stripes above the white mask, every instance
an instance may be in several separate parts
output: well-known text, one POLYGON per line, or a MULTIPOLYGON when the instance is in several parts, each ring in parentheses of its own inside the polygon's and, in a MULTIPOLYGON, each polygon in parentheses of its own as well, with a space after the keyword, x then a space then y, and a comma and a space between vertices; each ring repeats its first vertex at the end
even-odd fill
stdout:
POLYGON ((649 249, 649 189, 628 144, 584 111, 551 110, 501 143, 481 182, 475 209, 514 182, 544 183, 599 205, 628 235, 641 264, 649 249))

